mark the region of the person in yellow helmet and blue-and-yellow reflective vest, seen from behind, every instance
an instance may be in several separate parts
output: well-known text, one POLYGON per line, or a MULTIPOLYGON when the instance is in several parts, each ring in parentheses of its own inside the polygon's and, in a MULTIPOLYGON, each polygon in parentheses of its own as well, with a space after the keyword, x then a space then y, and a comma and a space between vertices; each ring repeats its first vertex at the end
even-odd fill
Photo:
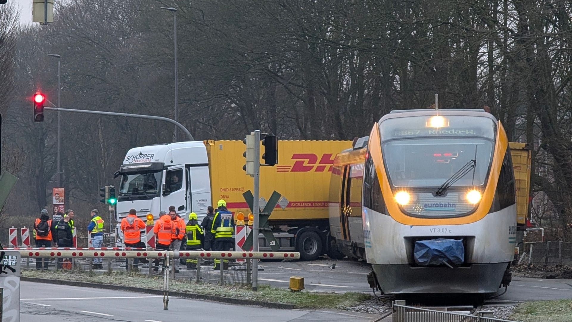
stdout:
MULTIPOLYGON (((216 252, 227 252, 227 250, 231 250, 235 246, 232 238, 234 230, 235 222, 232 220, 232 213, 227 209, 227 202, 220 199, 217 202, 217 210, 210 229, 210 232, 215 234, 216 252)), ((227 264, 227 260, 224 260, 223 263, 227 264)), ((215 267, 213 269, 220 269, 220 259, 215 259, 215 267)))

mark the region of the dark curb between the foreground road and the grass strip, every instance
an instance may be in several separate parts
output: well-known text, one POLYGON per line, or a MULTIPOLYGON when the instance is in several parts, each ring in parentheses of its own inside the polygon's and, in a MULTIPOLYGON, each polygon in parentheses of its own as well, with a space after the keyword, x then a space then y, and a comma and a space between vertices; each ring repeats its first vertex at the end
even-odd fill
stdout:
MULTIPOLYGON (((80 286, 80 287, 86 287, 86 288, 125 290, 126 292, 145 293, 145 294, 153 294, 153 295, 162 295, 163 294, 163 291, 159 290, 159 289, 146 289, 146 288, 137 288, 137 287, 133 287, 133 286, 123 286, 123 285, 98 284, 98 283, 62 281, 62 280, 48 280, 46 278, 37 278, 37 277, 20 277, 20 280, 21 281, 27 281, 27 282, 59 284, 59 285, 67 285, 67 286, 80 286)), ((264 307, 264 308, 271 308, 271 309, 296 309, 296 305, 293 305, 293 304, 282 304, 282 303, 272 303, 272 302, 263 302, 263 301, 255 301, 255 300, 232 299, 231 297, 202 295, 202 294, 195 294, 195 293, 182 293, 182 292, 171 292, 171 291, 169 291, 169 296, 182 297, 184 299, 206 300, 206 301, 213 301, 213 302, 227 303, 227 304, 251 305, 254 307, 264 307)))

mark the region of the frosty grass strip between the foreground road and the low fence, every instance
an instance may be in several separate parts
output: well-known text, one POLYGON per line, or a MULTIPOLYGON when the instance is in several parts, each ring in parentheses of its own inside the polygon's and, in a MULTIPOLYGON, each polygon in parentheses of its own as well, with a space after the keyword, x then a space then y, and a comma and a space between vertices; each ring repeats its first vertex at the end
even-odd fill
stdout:
MULTIPOLYGON (((92 282, 109 285, 133 286, 146 289, 162 289, 163 279, 158 277, 142 277, 137 274, 112 273, 111 275, 98 275, 89 273, 71 272, 40 272, 38 270, 22 270, 23 277, 46 278, 49 280, 92 282)), ((247 286, 219 286, 208 283, 195 284, 194 282, 169 280, 169 290, 173 292, 204 294, 212 296, 230 297, 265 301, 282 304, 293 304, 298 308, 332 308, 346 309, 363 301, 371 299, 369 294, 347 292, 338 293, 311 293, 290 292, 288 289, 275 288, 270 285, 260 285, 259 291, 252 292, 247 286)))

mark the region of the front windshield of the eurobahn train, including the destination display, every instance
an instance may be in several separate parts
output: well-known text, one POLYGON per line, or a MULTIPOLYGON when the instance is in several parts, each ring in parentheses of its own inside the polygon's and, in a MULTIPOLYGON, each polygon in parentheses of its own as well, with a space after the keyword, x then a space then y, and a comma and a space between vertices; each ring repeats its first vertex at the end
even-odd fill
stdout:
POLYGON ((439 187, 467 165, 470 171, 452 187, 486 183, 495 136, 495 123, 487 117, 399 117, 384 120, 380 133, 385 167, 395 188, 439 187))

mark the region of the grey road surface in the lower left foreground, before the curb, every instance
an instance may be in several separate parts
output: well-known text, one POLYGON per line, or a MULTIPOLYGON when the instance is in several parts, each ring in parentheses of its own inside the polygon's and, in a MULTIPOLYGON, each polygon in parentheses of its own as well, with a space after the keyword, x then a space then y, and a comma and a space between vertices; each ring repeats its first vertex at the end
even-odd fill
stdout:
POLYGON ((22 322, 62 321, 371 321, 374 315, 340 311, 282 310, 34 282, 21 283, 22 322))

